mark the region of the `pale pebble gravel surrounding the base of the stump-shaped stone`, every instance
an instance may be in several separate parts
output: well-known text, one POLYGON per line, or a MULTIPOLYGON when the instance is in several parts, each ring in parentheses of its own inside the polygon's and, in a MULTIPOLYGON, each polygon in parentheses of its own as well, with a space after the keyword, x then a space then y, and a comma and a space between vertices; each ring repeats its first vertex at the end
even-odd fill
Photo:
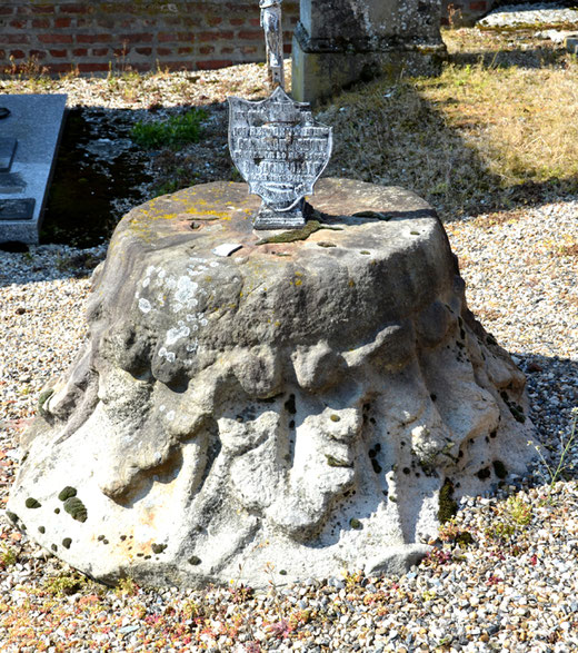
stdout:
MULTIPOLYGON (((220 85, 209 86, 218 95, 220 85)), ((570 466, 578 447, 564 448, 578 406, 577 214, 578 198, 560 198, 447 225, 469 305, 527 373, 542 453, 555 467, 564 453, 569 479, 550 484, 539 463, 528 478, 510 476, 492 495, 462 501, 434 553, 402 577, 343 571, 287 587, 271 570, 260 594, 242 584, 242 570, 229 586, 205 592, 130 581, 106 588, 1 520, 0 650, 577 651, 578 483, 570 466)), ((86 337, 88 270, 103 254, 0 251, 0 505, 40 388, 86 337)))

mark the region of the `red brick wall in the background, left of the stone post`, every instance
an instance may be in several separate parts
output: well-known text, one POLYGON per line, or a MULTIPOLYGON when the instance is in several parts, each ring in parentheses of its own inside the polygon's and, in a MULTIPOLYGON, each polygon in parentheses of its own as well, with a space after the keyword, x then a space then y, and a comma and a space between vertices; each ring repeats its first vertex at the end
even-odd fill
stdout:
MULTIPOLYGON (((286 51, 299 14, 283 2, 286 51)), ((0 71, 211 69, 265 60, 256 0, 0 0, 0 71)))

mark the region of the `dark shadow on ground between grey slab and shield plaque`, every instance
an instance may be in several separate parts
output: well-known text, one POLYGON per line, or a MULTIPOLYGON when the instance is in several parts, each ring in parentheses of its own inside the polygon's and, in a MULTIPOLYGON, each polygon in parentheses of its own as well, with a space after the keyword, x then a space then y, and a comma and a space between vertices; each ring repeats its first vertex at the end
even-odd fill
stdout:
POLYGON ((225 105, 209 113, 201 141, 175 151, 144 150, 130 138, 138 121, 166 120, 170 109, 76 108, 68 112, 49 189, 41 244, 94 247, 107 241, 132 207, 157 195, 230 179, 225 105))

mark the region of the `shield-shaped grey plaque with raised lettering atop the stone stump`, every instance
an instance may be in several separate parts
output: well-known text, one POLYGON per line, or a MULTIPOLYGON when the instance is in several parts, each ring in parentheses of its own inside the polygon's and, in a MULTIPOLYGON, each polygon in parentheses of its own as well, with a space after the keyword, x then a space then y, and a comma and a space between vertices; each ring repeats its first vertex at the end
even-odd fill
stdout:
POLYGON ((260 102, 229 98, 229 149, 249 192, 263 206, 256 229, 301 227, 305 196, 331 156, 331 128, 281 87, 260 102))

